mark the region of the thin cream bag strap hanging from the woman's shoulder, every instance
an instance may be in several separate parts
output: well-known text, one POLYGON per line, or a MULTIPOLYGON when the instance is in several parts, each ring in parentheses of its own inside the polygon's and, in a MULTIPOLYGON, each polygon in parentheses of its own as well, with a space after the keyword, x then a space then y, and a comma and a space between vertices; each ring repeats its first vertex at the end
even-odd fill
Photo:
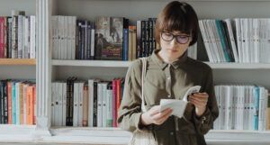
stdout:
POLYGON ((147 69, 147 59, 146 58, 140 58, 142 61, 142 69, 141 69, 141 112, 145 113, 147 112, 146 107, 145 107, 145 102, 144 102, 144 78, 146 75, 146 69, 147 69))

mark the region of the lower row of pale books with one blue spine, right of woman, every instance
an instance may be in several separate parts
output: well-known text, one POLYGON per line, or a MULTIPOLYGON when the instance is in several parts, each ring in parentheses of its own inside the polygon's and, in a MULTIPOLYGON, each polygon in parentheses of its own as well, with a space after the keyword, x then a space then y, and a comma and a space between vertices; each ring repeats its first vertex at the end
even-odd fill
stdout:
POLYGON ((215 130, 270 130, 268 90, 263 86, 215 86, 220 115, 215 130))

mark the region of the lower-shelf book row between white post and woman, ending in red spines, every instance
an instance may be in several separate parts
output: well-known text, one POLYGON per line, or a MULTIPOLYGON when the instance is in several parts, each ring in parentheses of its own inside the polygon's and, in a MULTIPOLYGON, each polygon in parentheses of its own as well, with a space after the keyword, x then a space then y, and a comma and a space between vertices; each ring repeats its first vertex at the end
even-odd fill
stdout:
POLYGON ((52 83, 52 126, 117 127, 123 79, 89 79, 52 83))

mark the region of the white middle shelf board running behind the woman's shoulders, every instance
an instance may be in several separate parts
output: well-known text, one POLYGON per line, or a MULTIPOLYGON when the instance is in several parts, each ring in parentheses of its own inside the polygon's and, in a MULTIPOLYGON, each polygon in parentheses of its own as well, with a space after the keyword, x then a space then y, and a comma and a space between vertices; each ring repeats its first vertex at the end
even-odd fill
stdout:
MULTIPOLYGON (((270 69, 270 64, 267 63, 210 63, 208 64, 213 69, 270 69)), ((108 67, 108 68, 128 68, 131 61, 117 60, 52 60, 52 66, 70 66, 70 67, 108 67)))

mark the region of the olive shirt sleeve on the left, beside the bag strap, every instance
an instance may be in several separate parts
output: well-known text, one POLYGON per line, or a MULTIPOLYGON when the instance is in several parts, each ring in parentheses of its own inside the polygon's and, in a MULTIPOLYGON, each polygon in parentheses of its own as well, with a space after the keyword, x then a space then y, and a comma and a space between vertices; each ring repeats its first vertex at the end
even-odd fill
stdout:
POLYGON ((125 77, 124 91, 118 111, 117 122, 122 130, 134 131, 139 129, 141 115, 141 62, 134 61, 125 77))

